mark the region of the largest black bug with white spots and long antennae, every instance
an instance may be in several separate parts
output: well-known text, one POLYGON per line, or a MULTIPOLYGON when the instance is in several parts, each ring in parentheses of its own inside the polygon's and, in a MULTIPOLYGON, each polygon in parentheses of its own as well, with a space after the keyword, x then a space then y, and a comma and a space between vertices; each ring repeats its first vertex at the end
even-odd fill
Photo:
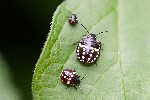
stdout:
MULTIPOLYGON (((81 24, 82 25, 82 24, 81 24)), ((82 25, 83 26, 83 25, 82 25)), ((76 48, 76 53, 79 61, 84 64, 91 64, 96 62, 97 58, 100 56, 101 42, 96 39, 95 34, 89 33, 87 28, 83 26, 88 35, 84 36, 76 48)), ((105 31, 108 32, 108 31, 105 31)), ((103 33, 103 32, 101 32, 103 33)), ((99 33, 100 34, 100 33, 99 33)))

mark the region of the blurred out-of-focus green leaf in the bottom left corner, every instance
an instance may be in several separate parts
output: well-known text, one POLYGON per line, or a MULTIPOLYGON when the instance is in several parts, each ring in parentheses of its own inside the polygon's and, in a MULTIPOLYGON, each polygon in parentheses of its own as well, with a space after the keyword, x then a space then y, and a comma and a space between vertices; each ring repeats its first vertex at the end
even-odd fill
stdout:
POLYGON ((0 53, 0 100, 21 100, 21 93, 13 83, 9 65, 0 53))

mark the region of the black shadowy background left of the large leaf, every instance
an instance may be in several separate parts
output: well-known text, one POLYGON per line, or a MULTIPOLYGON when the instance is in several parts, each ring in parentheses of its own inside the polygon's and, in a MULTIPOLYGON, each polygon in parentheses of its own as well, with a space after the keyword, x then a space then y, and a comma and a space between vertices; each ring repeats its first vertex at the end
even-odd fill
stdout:
POLYGON ((62 0, 1 0, 0 52, 13 73, 24 100, 32 99, 35 64, 50 30, 50 22, 62 0))

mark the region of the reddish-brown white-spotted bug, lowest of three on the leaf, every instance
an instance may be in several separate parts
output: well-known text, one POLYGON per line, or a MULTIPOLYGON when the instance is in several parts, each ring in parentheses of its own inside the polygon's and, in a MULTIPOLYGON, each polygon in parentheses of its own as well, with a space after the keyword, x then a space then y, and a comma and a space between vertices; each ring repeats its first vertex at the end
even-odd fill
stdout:
POLYGON ((76 90, 76 85, 79 86, 82 80, 80 80, 80 76, 77 75, 75 70, 69 68, 61 72, 60 79, 67 87, 74 87, 76 90))

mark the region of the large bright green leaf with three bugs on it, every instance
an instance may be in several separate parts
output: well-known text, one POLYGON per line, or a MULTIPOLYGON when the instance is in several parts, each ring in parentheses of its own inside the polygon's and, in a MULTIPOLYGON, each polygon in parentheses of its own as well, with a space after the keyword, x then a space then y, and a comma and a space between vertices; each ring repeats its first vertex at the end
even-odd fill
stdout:
POLYGON ((148 100, 150 98, 150 12, 148 0, 67 0, 56 10, 50 34, 36 65, 33 96, 40 100, 148 100), (69 11, 79 24, 68 24, 69 11), (97 66, 77 61, 76 45, 86 30, 97 36, 104 50, 97 66), (66 89, 63 69, 85 77, 80 86, 66 89))

